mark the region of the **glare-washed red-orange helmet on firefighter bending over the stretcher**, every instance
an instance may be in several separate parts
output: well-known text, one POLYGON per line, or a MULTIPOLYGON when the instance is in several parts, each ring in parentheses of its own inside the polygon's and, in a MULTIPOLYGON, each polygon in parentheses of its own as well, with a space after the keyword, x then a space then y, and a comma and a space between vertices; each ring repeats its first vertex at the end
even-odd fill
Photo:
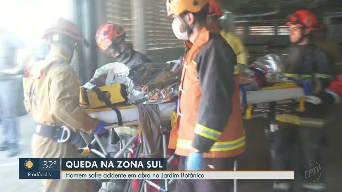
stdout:
POLYGON ((100 51, 105 52, 113 44, 113 41, 117 41, 118 38, 124 36, 123 27, 113 23, 105 23, 97 29, 95 39, 100 51))

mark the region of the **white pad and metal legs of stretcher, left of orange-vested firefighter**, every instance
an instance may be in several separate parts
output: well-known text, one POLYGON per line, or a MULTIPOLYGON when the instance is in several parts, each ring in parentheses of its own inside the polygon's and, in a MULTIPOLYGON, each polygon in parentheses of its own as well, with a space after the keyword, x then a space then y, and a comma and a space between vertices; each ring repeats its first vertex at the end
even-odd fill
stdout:
MULTIPOLYGON (((171 120, 171 113, 175 110, 176 104, 175 102, 170 102, 170 103, 162 103, 162 104, 156 104, 159 107, 159 115, 160 115, 160 121, 161 122, 169 122, 171 120)), ((132 127, 132 126, 138 126, 139 125, 139 110, 136 105, 129 105, 129 106, 118 106, 116 107, 120 113, 121 113, 121 118, 123 121, 122 126, 127 126, 127 127, 132 127)), ((119 126, 118 124, 118 117, 117 113, 112 110, 112 108, 98 108, 98 109, 84 109, 90 116, 93 118, 97 118, 101 121, 111 123, 111 126, 105 127, 106 129, 115 129, 119 126)), ((161 123, 162 124, 162 123, 161 123)), ((162 134, 162 142, 163 142, 163 157, 168 159, 167 162, 170 164, 172 161, 174 161, 177 157, 176 154, 168 154, 168 149, 167 149, 167 134, 170 132, 171 126, 168 125, 162 125, 160 126, 160 132, 162 134), (168 155, 169 158, 168 158, 168 155)), ((134 156, 133 158, 139 158, 139 154, 142 152, 142 139, 141 136, 139 135, 138 132, 135 132, 130 140, 125 143, 124 145, 121 146, 120 144, 120 150, 112 157, 110 154, 107 152, 105 146, 103 145, 101 138, 98 135, 94 135, 95 139, 92 140, 91 142, 87 140, 87 137, 84 135, 84 133, 81 132, 81 136, 83 137, 83 140, 86 141, 87 147, 83 148, 81 150, 81 155, 86 156, 89 154, 89 152, 93 152, 97 154, 98 156, 101 156, 103 158, 119 158, 123 155, 124 152, 127 150, 132 150, 129 147, 132 146, 134 142, 137 142, 136 149, 134 151, 132 150, 132 153, 134 156), (94 149, 93 146, 95 143, 98 143, 98 145, 101 148, 101 151, 98 151, 97 149, 94 149)), ((162 192, 169 192, 169 186, 174 183, 174 179, 165 179, 165 185, 160 186, 159 184, 153 182, 152 180, 148 179, 142 179, 139 181, 138 184, 138 189, 136 191, 141 192, 141 191, 146 191, 147 190, 147 185, 150 185, 157 189, 158 191, 162 192)), ((131 191, 131 186, 132 186, 132 179, 130 179, 125 188, 124 192, 129 192, 131 191)))

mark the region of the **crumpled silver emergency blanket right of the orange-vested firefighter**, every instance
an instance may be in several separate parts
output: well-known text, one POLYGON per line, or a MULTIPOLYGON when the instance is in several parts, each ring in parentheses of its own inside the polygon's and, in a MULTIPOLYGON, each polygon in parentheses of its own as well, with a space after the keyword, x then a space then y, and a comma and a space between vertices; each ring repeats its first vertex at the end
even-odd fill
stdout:
POLYGON ((259 57, 249 67, 264 71, 265 79, 270 84, 280 83, 285 79, 283 72, 284 66, 281 63, 279 55, 269 54, 259 57))

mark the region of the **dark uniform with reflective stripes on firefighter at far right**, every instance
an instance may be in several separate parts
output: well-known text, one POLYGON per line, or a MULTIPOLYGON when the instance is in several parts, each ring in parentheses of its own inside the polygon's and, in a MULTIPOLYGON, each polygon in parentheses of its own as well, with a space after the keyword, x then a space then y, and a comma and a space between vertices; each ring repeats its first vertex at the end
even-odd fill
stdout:
MULTIPOLYGON (((297 80, 306 80, 315 82, 313 92, 324 90, 332 79, 334 79, 334 70, 329 56, 326 52, 313 44, 290 45, 280 56, 281 63, 284 65, 285 76, 297 80)), ((301 108, 301 107, 300 107, 301 108)), ((329 105, 323 103, 314 105, 305 102, 304 109, 293 110, 290 113, 277 114, 276 120, 279 124, 279 131, 273 133, 272 141, 272 168, 274 170, 293 170, 291 167, 291 154, 299 141, 302 160, 296 160, 302 169, 311 169, 311 164, 321 164, 319 150, 323 147, 326 135, 323 132, 324 116, 331 109, 329 105), (309 163, 310 164, 307 164, 309 163)), ((322 168, 322 166, 321 166, 322 168)), ((321 171, 320 173, 324 172, 321 171)), ((304 172, 305 173, 305 172, 304 172)), ((306 192, 324 191, 325 185, 323 175, 316 180, 303 177, 303 188, 306 192)), ((295 174, 298 174, 295 172, 295 174)), ((299 174, 299 175, 300 175, 299 174)), ((291 191, 292 183, 286 180, 276 180, 274 189, 276 191, 291 191)))

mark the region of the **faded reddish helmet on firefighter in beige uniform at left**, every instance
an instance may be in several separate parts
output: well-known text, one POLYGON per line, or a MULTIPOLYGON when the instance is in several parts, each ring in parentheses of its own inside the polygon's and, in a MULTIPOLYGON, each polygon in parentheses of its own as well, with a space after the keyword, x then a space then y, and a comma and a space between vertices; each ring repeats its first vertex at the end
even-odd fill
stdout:
POLYGON ((58 20, 50 28, 45 30, 43 39, 47 39, 47 36, 51 33, 62 33, 75 40, 82 39, 80 30, 77 25, 64 18, 58 18, 58 20))

